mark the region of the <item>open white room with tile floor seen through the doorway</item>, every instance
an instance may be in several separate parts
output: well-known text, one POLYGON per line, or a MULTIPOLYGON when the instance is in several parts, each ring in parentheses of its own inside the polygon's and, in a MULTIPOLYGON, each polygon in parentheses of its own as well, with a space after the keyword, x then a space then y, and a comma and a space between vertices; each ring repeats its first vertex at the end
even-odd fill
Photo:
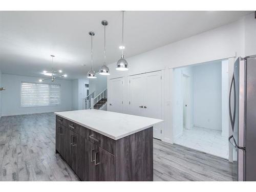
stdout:
POLYGON ((174 69, 174 143, 228 159, 228 60, 174 69))

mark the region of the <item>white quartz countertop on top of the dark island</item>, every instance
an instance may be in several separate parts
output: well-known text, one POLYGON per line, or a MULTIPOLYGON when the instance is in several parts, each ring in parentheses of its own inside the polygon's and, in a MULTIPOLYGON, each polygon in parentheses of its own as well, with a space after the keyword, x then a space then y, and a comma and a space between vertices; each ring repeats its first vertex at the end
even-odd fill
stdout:
POLYGON ((55 112, 55 114, 114 140, 145 130, 163 121, 102 110, 65 111, 55 112))

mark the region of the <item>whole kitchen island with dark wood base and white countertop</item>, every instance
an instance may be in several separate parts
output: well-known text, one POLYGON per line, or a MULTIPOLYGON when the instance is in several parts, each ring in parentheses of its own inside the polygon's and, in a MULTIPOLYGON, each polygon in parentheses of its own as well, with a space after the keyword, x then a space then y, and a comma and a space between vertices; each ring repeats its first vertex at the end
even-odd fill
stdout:
POLYGON ((57 112, 56 153, 82 181, 153 181, 153 125, 101 110, 57 112))

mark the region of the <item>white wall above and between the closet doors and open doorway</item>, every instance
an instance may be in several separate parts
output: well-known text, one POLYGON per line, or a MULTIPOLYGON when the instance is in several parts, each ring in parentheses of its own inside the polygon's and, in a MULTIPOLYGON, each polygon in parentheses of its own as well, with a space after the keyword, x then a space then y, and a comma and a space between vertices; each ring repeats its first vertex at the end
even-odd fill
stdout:
MULTIPOLYGON (((241 19, 238 22, 231 23, 177 42, 172 44, 147 51, 135 55, 133 57, 126 58, 129 63, 129 71, 120 72, 115 70, 116 62, 109 65, 111 75, 110 78, 124 77, 124 106, 123 109, 129 109, 129 102, 125 93, 127 93, 127 76, 163 70, 164 75, 164 130, 163 140, 173 143, 173 129, 171 114, 173 104, 173 90, 172 79, 173 71, 169 70, 175 67, 182 67, 192 65, 201 62, 207 62, 212 60, 219 60, 229 57, 245 56, 246 53, 256 54, 256 46, 251 46, 249 50, 245 49, 249 44, 249 39, 245 37, 249 34, 256 42, 255 29, 253 25, 250 31, 245 32, 245 28, 250 28, 251 23, 255 23, 253 14, 250 14, 245 19, 241 19), (247 24, 249 23, 249 24, 247 24), (254 35, 254 36, 253 36, 254 35)), ((139 43, 139 42, 138 42, 139 43)), ((255 44, 254 44, 255 45, 255 44)), ((136 45, 134 45, 136 46, 136 45)), ((125 49, 132 49, 126 47, 125 49)), ((125 52, 124 52, 125 56, 125 52)), ((124 111, 125 113, 125 111, 124 111)))

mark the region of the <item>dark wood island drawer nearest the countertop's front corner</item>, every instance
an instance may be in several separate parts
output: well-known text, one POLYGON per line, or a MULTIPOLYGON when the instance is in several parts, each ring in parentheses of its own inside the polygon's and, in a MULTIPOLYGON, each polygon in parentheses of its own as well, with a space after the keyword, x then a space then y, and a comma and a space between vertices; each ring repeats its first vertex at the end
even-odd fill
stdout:
MULTIPOLYGON (((81 129, 82 128, 83 127, 81 127, 81 129)), ((116 147, 114 139, 111 139, 89 129, 86 129, 86 138, 92 143, 108 151, 109 153, 115 155, 116 147)))

